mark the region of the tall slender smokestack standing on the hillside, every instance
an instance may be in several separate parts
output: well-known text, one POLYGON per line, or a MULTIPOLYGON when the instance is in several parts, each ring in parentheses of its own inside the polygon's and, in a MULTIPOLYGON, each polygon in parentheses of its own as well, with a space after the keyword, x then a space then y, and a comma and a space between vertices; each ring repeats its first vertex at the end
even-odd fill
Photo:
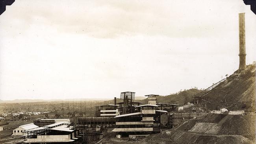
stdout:
POLYGON ((245 13, 239 13, 239 72, 246 69, 245 13))

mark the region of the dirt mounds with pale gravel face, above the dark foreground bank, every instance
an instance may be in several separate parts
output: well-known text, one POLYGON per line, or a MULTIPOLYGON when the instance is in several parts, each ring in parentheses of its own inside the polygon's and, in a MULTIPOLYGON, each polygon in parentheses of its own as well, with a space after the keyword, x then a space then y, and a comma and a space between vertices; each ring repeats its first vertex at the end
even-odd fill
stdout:
POLYGON ((176 130, 194 131, 213 135, 241 135, 255 139, 255 114, 211 114, 191 119, 176 130))

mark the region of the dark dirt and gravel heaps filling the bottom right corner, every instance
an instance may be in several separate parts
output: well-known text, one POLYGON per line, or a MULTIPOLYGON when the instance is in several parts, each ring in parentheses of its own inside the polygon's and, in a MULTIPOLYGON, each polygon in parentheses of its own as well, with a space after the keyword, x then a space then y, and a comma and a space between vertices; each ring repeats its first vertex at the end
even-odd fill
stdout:
POLYGON ((145 139, 156 144, 255 143, 255 114, 206 114, 145 139))

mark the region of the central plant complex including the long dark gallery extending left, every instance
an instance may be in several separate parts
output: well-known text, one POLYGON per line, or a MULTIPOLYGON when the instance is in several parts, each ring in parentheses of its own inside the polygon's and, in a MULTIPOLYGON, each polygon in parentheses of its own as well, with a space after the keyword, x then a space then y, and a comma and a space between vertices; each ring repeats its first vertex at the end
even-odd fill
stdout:
MULTIPOLYGON (((148 104, 135 101, 135 92, 121 92, 123 102, 96 107, 95 117, 76 117, 65 128, 89 142, 103 137, 102 131, 113 128, 117 137, 146 137, 171 128, 171 114, 178 105, 157 103, 158 95, 147 95, 148 104)), ((58 129, 60 130, 60 129, 58 129)), ((71 137, 72 140, 73 137, 71 137)))

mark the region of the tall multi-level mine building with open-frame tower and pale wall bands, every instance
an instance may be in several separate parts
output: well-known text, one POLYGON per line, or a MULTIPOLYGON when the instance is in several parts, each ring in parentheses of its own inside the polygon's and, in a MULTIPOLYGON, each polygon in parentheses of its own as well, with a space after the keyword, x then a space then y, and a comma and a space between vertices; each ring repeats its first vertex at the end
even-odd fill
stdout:
POLYGON ((163 107, 174 110, 173 105, 169 103, 156 103, 155 94, 146 95, 148 104, 139 105, 140 102, 133 102, 135 92, 122 92, 119 112, 116 118, 113 132, 117 132, 117 137, 146 137, 152 133, 160 133, 161 128, 170 128, 170 115, 168 111, 160 110, 163 107), (159 109, 160 108, 160 109, 159 109))

